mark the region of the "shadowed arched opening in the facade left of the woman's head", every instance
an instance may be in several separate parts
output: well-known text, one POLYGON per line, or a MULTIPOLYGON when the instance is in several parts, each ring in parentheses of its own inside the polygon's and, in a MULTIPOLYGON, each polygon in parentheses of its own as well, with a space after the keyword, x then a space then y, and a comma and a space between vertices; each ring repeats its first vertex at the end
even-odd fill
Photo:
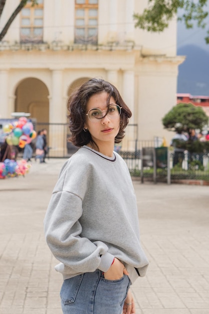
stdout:
POLYGON ((23 79, 16 87, 15 98, 16 112, 28 112, 39 123, 49 122, 49 90, 42 80, 23 79))

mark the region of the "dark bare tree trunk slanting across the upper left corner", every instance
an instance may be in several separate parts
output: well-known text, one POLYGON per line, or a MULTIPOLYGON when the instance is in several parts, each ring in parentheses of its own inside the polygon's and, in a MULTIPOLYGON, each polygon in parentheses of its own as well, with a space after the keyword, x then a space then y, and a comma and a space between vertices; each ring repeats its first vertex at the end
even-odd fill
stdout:
MULTIPOLYGON (((3 13, 3 10, 4 10, 6 2, 7 2, 7 0, 0 0, 0 19, 2 17, 2 13, 3 13)), ((5 35, 7 34, 7 31, 9 30, 9 28, 11 26, 11 24, 13 23, 13 21, 15 20, 15 18, 19 14, 19 12, 25 7, 27 2, 28 2, 28 0, 21 0, 21 2, 18 5, 18 7, 14 10, 12 15, 9 17, 7 23, 5 24, 5 26, 3 27, 3 29, 2 29, 2 31, 0 33, 0 42, 5 37, 5 35)), ((37 0, 31 0, 31 3, 34 6, 34 5, 37 4, 37 0)))

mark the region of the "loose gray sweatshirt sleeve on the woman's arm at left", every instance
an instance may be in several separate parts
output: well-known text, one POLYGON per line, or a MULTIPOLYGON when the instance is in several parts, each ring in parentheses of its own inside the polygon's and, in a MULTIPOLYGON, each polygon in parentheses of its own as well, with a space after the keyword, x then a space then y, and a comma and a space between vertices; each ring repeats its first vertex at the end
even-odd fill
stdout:
MULTIPOLYGON (((66 176, 65 176, 66 177, 66 176)), ((62 181, 62 178, 59 180, 62 181)), ((63 184, 65 186, 66 184, 63 184)), ((82 237, 82 198, 75 193, 55 189, 44 220, 46 241, 53 255, 73 273, 107 271, 114 256, 101 241, 82 237)))

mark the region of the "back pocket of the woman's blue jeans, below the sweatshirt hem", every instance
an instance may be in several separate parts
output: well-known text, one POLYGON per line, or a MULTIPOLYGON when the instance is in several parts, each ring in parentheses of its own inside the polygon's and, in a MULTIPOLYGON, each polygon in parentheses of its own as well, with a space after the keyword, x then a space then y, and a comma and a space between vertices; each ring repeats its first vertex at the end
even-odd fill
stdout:
POLYGON ((84 274, 81 274, 64 280, 60 290, 61 301, 64 305, 75 302, 83 276, 84 274))

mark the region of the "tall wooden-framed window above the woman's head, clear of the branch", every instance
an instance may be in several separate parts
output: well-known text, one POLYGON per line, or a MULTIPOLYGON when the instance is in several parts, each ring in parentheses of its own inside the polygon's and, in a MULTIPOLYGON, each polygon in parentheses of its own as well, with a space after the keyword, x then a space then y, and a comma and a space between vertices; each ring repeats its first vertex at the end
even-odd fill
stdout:
POLYGON ((75 0, 75 43, 97 44, 98 0, 75 0))

